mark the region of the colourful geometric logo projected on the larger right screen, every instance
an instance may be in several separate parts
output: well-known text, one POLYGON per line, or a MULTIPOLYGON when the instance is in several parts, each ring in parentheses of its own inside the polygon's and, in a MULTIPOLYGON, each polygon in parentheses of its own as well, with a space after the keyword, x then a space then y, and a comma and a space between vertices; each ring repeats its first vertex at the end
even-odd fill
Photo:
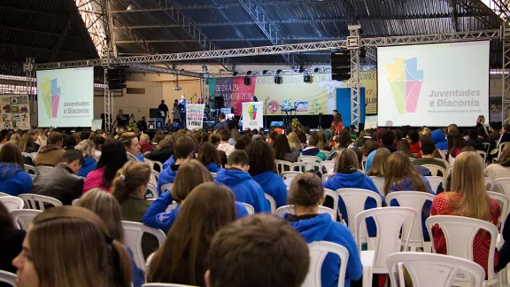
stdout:
POLYGON ((398 113, 416 112, 423 81, 423 70, 418 71, 418 58, 395 58, 395 63, 386 65, 386 70, 398 113))

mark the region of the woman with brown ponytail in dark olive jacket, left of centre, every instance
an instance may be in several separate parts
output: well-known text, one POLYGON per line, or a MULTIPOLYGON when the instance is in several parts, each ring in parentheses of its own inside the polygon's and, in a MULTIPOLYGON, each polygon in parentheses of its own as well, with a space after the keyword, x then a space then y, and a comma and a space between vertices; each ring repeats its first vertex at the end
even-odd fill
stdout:
POLYGON ((152 203, 145 200, 150 181, 151 167, 141 161, 128 161, 119 169, 112 183, 112 195, 119 201, 123 221, 142 222, 152 203))

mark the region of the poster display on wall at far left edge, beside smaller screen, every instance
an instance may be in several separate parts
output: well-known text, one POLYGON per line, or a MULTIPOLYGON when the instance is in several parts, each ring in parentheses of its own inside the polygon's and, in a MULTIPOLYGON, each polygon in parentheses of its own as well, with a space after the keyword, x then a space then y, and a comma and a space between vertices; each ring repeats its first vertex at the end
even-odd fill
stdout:
POLYGON ((27 95, 0 96, 0 129, 30 129, 27 95))

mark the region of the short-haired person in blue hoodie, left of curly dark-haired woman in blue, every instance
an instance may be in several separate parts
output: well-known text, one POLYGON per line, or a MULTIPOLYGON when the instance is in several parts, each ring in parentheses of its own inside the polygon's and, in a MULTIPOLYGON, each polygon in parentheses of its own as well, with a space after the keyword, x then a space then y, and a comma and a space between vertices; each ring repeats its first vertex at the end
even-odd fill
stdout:
POLYGON ((220 170, 214 181, 227 185, 234 191, 236 200, 253 206, 255 213, 270 213, 271 207, 264 196, 264 190, 248 174, 250 161, 246 152, 236 150, 230 153, 225 167, 227 168, 220 170))

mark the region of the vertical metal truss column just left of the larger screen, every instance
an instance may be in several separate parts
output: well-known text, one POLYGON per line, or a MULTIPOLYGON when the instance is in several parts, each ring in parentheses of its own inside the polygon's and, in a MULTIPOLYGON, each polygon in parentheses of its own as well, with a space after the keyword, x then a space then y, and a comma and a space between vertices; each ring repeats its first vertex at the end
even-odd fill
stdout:
MULTIPOLYGON (((350 25, 349 36, 347 37, 347 49, 351 50, 351 124, 359 127, 359 50, 361 49, 361 38, 359 35, 360 25, 350 25)), ((364 105, 364 104, 363 104, 364 105)))

